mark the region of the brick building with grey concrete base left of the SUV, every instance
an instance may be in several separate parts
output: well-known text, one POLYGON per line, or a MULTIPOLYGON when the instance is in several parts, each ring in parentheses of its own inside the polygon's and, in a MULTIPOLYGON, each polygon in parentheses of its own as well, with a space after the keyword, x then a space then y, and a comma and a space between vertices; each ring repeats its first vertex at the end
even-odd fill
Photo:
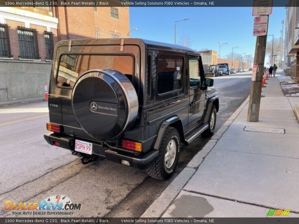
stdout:
POLYGON ((59 40, 129 31, 129 7, 0 7, 0 100, 44 94, 59 40))

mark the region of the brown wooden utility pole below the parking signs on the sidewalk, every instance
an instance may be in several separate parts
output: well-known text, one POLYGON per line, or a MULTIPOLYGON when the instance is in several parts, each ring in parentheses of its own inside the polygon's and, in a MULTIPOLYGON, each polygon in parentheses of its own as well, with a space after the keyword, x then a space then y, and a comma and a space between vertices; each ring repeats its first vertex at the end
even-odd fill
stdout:
POLYGON ((254 52, 254 67, 256 66, 256 68, 253 68, 255 71, 253 71, 251 78, 249 106, 247 114, 247 121, 249 122, 259 121, 259 107, 261 103, 266 45, 267 35, 257 36, 254 52))

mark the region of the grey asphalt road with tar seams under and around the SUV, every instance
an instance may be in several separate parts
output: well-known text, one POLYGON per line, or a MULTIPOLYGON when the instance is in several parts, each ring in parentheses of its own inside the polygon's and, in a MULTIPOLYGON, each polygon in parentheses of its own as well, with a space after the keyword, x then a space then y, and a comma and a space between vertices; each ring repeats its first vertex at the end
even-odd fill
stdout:
MULTIPOLYGON (((220 100, 216 131, 249 95, 250 77, 243 72, 214 78, 220 100)), ((107 160, 82 165, 68 150, 48 145, 47 112, 45 101, 0 107, 0 202, 39 202, 61 194, 82 204, 74 217, 139 217, 209 140, 198 137, 184 147, 175 175, 159 181, 107 160)), ((3 207, 0 216, 15 217, 3 207)), ((32 216, 38 217, 19 217, 32 216)))

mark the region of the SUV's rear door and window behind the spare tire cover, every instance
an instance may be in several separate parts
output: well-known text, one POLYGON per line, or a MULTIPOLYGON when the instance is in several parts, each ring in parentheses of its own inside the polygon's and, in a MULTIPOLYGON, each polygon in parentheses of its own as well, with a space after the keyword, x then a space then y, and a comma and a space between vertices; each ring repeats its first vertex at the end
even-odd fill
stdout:
MULTIPOLYGON (((140 49, 138 46, 62 46, 57 49, 50 97, 61 99, 64 133, 92 138, 78 124, 72 108, 72 90, 78 77, 94 69, 114 69, 125 74, 138 93, 140 49)), ((88 118, 86 118, 88 119, 88 118)), ((96 122, 96 121, 95 121, 96 122)))

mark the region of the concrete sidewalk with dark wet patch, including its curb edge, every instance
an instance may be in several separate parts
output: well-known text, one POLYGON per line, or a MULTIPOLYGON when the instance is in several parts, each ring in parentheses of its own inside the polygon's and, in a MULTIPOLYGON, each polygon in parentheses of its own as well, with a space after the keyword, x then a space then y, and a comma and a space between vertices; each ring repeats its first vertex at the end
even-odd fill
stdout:
POLYGON ((247 99, 141 217, 299 217, 299 97, 285 97, 276 77, 267 83, 259 122, 247 122, 247 99))

